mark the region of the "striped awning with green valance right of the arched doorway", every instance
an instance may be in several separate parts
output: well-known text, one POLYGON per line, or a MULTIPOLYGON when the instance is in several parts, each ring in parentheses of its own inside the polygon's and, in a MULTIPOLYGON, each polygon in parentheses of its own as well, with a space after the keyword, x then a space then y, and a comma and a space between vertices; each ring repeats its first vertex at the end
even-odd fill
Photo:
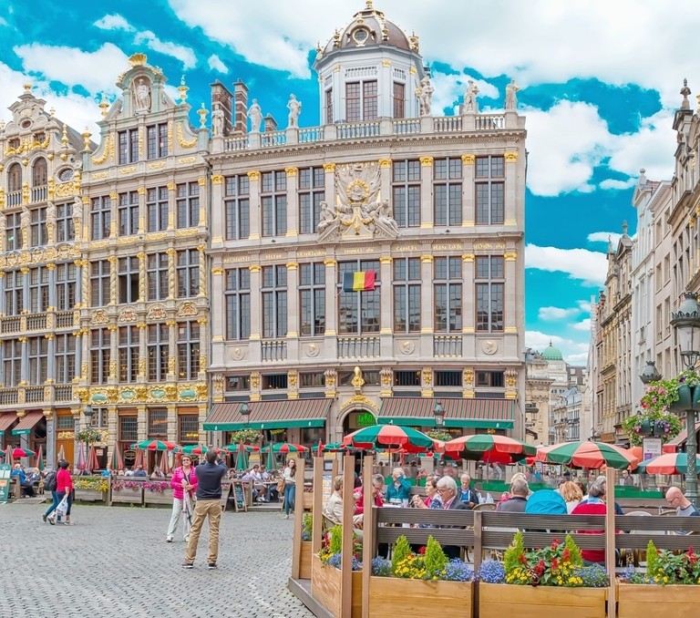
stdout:
POLYGON ((445 408, 445 427, 512 429, 514 399, 385 397, 377 423, 408 427, 436 427, 435 404, 445 408))

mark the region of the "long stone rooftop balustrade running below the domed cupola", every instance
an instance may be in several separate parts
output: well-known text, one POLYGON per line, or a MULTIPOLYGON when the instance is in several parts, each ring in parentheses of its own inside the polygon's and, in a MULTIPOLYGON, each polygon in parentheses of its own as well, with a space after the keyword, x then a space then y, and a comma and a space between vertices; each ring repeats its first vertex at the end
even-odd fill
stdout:
POLYGON ((337 122, 322 127, 284 129, 268 133, 251 133, 237 138, 222 138, 213 152, 232 152, 285 146, 299 143, 328 142, 345 139, 371 139, 401 135, 455 134, 505 129, 524 129, 525 118, 515 114, 468 114, 425 118, 379 118, 367 122, 337 122), (222 144, 222 146, 221 146, 222 144))

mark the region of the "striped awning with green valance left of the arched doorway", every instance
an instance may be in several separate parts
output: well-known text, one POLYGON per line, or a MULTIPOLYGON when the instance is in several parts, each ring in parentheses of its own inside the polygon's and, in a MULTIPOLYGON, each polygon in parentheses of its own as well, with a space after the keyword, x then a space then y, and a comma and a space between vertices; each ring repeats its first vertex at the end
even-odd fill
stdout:
POLYGON ((241 414, 240 401, 214 404, 202 427, 205 431, 324 427, 332 403, 330 397, 252 401, 248 418, 241 414))

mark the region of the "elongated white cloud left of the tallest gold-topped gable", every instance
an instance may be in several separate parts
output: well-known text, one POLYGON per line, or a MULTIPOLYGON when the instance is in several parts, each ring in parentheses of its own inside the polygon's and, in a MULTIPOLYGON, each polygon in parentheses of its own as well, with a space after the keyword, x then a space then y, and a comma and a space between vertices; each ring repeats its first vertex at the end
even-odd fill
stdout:
POLYGON ((59 81, 69 88, 80 85, 91 94, 116 93, 115 79, 129 67, 127 56, 111 43, 105 43, 94 52, 32 43, 16 46, 15 54, 22 58, 27 72, 45 77, 47 81, 59 81))

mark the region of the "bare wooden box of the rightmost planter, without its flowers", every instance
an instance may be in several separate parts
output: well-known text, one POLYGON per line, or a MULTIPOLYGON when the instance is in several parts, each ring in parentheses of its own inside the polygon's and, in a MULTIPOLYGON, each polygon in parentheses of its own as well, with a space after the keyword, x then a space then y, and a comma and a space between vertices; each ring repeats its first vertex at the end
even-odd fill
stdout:
POLYGON ((700 586, 654 586, 621 583, 617 586, 618 618, 639 618, 658 613, 674 618, 695 618, 700 586))

